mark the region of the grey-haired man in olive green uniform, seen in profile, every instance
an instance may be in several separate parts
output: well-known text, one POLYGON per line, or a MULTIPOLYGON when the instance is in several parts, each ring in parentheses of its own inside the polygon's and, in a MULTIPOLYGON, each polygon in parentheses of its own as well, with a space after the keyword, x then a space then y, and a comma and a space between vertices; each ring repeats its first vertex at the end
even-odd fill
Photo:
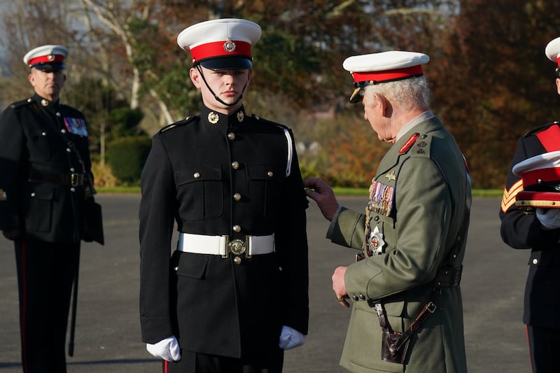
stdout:
POLYGON ((365 119, 393 143, 377 167, 365 213, 339 206, 319 178, 304 180, 331 221, 327 237, 360 250, 337 267, 337 302, 353 303, 340 365, 352 372, 467 371, 459 281, 470 178, 453 136, 428 109, 423 53, 349 57, 365 119))

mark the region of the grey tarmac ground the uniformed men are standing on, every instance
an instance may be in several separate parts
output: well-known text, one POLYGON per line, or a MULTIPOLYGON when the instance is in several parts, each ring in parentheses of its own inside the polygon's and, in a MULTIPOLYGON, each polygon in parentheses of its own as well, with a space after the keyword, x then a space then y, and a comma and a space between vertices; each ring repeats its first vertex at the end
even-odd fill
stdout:
MULTIPOLYGON (((106 244, 82 246, 69 373, 161 372, 160 361, 146 351, 140 337, 139 199, 139 195, 97 195, 104 212, 106 244)), ((339 202, 363 211, 366 197, 341 197, 339 202)), ((284 372, 346 372, 338 361, 350 311, 335 300, 330 276, 337 266, 353 262, 354 251, 325 239, 328 221, 314 202, 309 206, 309 335, 304 346, 286 351, 284 372)), ((499 208, 496 197, 475 198, 472 204, 461 281, 468 370, 529 373, 521 322, 529 253, 503 244, 499 208)), ((15 257, 13 244, 3 237, 0 294, 0 373, 22 372, 15 257)))

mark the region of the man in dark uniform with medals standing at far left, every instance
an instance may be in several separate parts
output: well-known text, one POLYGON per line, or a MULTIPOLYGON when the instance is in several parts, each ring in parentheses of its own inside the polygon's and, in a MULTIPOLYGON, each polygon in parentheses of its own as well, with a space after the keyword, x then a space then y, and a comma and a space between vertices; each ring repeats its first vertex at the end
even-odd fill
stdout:
POLYGON ((35 94, 0 117, 0 230, 13 240, 24 372, 66 372, 64 343, 93 184, 84 115, 59 100, 62 45, 24 57, 35 94))

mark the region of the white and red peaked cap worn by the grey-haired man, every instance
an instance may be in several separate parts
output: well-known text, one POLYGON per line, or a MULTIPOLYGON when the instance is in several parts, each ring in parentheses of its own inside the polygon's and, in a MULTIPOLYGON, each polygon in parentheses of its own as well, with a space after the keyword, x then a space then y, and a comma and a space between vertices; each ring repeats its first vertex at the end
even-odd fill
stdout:
POLYGON ((350 102, 360 101, 360 93, 366 85, 393 82, 423 75, 422 64, 430 57, 420 52, 389 50, 388 52, 370 53, 351 56, 344 60, 342 67, 350 71, 354 80, 354 91, 350 102))

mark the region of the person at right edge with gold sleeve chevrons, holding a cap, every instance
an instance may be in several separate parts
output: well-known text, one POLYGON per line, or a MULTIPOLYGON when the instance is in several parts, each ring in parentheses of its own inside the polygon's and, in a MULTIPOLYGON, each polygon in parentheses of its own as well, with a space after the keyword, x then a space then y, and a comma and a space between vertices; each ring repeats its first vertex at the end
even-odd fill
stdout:
MULTIPOLYGON (((560 37, 545 48, 556 65, 560 94, 560 37)), ((517 141, 499 216, 505 244, 530 249, 523 323, 533 373, 556 372, 560 349, 560 122, 531 129, 517 141)))

